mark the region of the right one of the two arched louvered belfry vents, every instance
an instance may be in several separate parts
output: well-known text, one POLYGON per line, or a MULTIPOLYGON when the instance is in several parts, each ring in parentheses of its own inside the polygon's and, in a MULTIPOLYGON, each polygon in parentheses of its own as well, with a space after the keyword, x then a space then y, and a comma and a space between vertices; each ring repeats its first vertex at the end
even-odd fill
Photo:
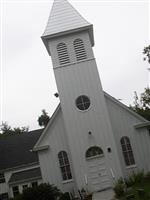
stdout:
POLYGON ((77 61, 84 60, 87 58, 86 51, 84 48, 84 43, 81 39, 76 39, 74 41, 74 50, 75 50, 77 61))

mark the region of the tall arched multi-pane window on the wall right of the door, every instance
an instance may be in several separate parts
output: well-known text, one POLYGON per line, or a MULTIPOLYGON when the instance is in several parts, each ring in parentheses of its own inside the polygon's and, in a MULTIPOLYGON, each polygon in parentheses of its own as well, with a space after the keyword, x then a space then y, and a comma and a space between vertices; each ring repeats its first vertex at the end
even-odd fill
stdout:
POLYGON ((134 160, 132 147, 130 144, 130 139, 124 136, 121 138, 120 143, 121 143, 122 153, 124 156, 124 161, 125 161, 126 166, 134 165, 135 160, 134 160))

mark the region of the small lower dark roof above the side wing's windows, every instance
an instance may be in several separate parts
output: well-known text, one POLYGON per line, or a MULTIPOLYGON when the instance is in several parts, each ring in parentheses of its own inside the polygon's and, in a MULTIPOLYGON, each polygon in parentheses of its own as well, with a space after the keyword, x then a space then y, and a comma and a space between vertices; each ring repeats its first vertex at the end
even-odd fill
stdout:
POLYGON ((41 170, 40 168, 34 168, 34 169, 29 169, 21 172, 16 172, 13 173, 9 183, 15 183, 15 182, 23 182, 23 181, 28 181, 28 180, 35 180, 41 178, 41 170))

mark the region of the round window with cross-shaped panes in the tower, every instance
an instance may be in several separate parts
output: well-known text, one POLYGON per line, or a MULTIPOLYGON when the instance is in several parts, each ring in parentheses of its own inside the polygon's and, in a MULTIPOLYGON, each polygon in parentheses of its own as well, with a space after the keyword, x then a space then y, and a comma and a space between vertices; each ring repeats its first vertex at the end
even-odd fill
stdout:
POLYGON ((76 99, 76 106, 79 110, 87 110, 90 107, 90 99, 85 95, 81 95, 76 99))

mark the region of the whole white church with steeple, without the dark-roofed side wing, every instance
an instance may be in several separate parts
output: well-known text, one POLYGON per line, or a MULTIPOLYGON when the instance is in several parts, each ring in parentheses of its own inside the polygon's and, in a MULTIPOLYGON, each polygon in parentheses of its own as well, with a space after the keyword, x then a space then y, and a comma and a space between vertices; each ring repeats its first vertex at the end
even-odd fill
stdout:
POLYGON ((43 182, 76 194, 111 188, 132 171, 149 171, 150 122, 103 91, 93 25, 67 0, 54 0, 42 40, 60 98, 33 148, 43 182))

